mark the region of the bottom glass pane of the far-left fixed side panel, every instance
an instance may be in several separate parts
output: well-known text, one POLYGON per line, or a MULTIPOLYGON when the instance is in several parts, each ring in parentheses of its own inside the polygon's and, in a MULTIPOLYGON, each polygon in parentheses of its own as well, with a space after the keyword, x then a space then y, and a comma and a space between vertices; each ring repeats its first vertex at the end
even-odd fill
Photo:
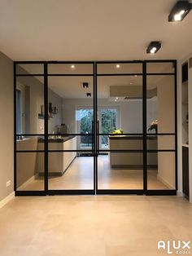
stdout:
POLYGON ((44 153, 16 153, 17 190, 44 190, 44 153))

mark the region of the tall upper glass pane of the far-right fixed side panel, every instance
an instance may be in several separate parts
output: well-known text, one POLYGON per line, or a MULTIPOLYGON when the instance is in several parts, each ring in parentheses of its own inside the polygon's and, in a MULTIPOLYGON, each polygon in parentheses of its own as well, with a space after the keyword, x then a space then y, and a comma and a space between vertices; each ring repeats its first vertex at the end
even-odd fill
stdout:
POLYGON ((147 132, 150 134, 175 132, 174 76, 147 76, 147 132))

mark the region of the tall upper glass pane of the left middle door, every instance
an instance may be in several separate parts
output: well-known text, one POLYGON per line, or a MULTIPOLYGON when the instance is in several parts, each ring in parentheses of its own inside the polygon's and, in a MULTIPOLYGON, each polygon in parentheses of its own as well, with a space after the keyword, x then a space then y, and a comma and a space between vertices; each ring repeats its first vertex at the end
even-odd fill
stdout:
POLYGON ((94 109, 93 77, 49 77, 48 86, 49 134, 81 133, 81 128, 83 132, 89 128, 89 132, 94 109), (89 127, 83 127, 83 121, 89 127))

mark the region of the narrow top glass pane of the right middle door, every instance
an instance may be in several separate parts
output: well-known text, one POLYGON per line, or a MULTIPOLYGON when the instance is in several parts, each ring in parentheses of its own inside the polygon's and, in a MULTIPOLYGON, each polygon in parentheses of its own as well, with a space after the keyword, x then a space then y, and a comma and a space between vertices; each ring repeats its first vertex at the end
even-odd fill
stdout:
POLYGON ((98 64, 98 74, 106 73, 142 73, 142 63, 111 63, 111 64, 98 64))

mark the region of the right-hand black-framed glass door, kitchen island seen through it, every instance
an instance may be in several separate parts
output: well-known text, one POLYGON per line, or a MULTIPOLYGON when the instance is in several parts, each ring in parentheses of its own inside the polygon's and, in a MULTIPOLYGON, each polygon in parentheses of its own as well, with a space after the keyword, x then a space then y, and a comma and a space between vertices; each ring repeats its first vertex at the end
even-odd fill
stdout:
POLYGON ((98 193, 143 193, 142 62, 97 63, 98 193))

